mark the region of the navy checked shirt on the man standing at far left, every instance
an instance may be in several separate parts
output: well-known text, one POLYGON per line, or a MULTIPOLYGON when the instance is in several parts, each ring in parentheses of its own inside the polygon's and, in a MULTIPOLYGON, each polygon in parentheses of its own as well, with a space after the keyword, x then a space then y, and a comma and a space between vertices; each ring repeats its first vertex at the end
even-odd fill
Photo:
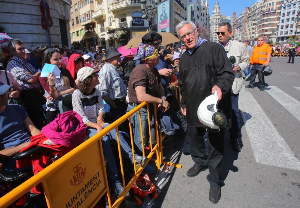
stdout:
POLYGON ((26 60, 13 57, 13 59, 7 64, 7 70, 13 75, 15 80, 21 85, 22 90, 30 90, 34 88, 40 88, 40 83, 28 83, 27 81, 32 78, 27 72, 33 75, 38 72, 31 64, 26 60))

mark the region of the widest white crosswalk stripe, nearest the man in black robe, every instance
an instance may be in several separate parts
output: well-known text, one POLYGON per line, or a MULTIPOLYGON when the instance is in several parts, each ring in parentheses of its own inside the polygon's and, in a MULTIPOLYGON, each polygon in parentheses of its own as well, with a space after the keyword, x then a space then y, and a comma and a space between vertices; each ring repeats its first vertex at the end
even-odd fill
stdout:
POLYGON ((252 94, 243 87, 239 97, 239 108, 256 162, 300 170, 299 160, 252 94))

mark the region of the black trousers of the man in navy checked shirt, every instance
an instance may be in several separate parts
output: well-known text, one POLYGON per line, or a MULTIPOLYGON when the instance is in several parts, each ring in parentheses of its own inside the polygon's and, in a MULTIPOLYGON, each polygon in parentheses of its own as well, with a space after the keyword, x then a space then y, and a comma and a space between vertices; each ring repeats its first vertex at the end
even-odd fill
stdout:
POLYGON ((26 112, 35 127, 41 129, 44 121, 42 95, 39 89, 22 90, 20 97, 26 103, 26 112))

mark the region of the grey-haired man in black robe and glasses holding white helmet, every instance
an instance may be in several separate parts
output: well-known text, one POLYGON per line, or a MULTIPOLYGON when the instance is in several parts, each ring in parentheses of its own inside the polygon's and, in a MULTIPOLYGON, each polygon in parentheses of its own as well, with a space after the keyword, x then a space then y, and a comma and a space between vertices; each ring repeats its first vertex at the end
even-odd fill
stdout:
POLYGON ((187 49, 181 56, 179 71, 182 114, 187 119, 190 152, 195 162, 187 171, 187 176, 195 177, 208 168, 209 200, 216 204, 221 197, 220 187, 223 186, 221 174, 224 158, 224 129, 221 128, 217 133, 208 129, 208 156, 205 156, 203 136, 207 127, 200 123, 197 109, 206 97, 217 91, 218 109, 226 115, 226 128, 230 128, 230 88, 235 76, 222 46, 201 39, 193 22, 182 21, 176 26, 176 30, 187 49))

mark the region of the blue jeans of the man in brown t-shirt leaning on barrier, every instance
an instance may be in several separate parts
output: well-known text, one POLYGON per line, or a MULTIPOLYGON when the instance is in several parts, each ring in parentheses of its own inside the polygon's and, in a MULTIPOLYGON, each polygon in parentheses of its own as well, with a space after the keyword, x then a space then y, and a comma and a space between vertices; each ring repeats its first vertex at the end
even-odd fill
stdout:
MULTIPOLYGON (((131 111, 137 105, 134 106, 128 104, 128 108, 126 112, 131 111)), ((141 108, 141 120, 142 120, 142 130, 143 130, 143 142, 146 145, 146 141, 149 138, 149 128, 148 128, 148 113, 147 108, 141 108)), ((134 133, 134 144, 137 146, 138 150, 137 153, 142 155, 143 153, 143 145, 141 140, 141 132, 140 132, 140 118, 139 118, 139 111, 131 116, 131 123, 133 124, 133 133, 134 133), (140 150, 140 151, 139 151, 140 150)))

